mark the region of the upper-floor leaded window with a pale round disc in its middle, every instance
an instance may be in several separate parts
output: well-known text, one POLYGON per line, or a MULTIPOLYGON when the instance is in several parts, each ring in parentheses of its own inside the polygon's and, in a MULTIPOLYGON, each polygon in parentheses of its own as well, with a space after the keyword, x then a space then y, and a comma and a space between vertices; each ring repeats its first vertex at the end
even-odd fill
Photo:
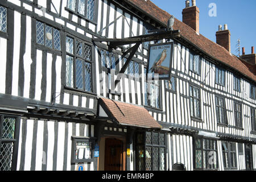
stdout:
POLYGON ((60 51, 60 31, 36 21, 36 43, 60 51))

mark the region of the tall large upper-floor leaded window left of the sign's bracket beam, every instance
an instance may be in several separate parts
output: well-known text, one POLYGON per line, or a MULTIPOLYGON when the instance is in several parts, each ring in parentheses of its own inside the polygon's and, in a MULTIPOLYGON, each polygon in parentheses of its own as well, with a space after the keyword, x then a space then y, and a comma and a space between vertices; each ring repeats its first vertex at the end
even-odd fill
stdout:
POLYGON ((92 92, 91 46, 67 36, 66 51, 66 85, 92 92))

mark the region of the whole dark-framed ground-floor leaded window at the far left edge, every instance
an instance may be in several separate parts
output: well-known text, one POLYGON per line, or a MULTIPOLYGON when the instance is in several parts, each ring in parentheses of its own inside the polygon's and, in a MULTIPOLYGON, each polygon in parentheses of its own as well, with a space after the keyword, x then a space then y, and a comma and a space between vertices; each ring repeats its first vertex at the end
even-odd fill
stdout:
POLYGON ((18 119, 0 115, 0 171, 12 171, 15 166, 16 126, 18 119))

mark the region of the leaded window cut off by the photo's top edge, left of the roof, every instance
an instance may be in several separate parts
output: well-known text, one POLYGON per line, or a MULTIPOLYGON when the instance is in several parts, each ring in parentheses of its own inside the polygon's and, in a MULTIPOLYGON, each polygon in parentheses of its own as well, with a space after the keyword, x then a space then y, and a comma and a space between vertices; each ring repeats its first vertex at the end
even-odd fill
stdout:
POLYGON ((95 0, 68 0, 68 9, 94 21, 95 0))

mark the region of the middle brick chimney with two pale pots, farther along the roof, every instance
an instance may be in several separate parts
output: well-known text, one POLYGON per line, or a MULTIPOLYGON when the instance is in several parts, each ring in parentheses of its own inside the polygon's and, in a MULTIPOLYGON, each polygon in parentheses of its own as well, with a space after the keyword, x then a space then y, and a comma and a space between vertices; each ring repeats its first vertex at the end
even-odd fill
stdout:
POLYGON ((221 25, 218 26, 218 31, 216 32, 216 43, 231 52, 230 31, 228 30, 227 24, 224 25, 224 30, 222 30, 221 25))

